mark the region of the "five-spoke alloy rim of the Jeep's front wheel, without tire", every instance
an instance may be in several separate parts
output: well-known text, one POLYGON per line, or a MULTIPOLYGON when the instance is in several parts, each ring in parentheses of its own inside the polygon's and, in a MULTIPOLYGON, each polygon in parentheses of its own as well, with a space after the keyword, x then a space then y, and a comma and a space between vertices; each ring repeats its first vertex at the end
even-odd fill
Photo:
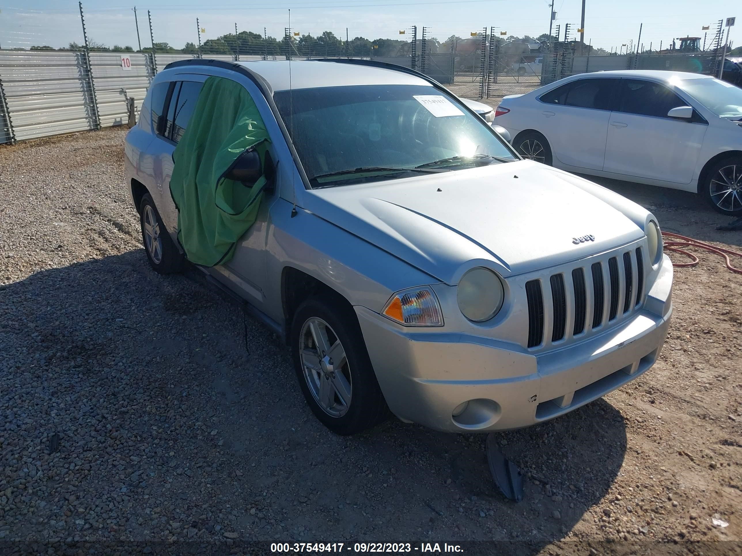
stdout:
POLYGON ((350 408, 352 378, 345 349, 322 319, 304 322, 299 335, 304 380, 312 397, 331 417, 343 417, 350 408))

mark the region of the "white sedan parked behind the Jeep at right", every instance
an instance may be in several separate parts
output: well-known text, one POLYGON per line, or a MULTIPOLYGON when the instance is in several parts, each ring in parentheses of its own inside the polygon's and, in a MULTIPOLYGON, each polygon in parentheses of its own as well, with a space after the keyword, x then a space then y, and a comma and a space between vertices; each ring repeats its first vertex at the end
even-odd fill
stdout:
POLYGON ((694 191, 742 214, 742 89, 698 73, 601 71, 505 96, 495 123, 521 156, 694 191))

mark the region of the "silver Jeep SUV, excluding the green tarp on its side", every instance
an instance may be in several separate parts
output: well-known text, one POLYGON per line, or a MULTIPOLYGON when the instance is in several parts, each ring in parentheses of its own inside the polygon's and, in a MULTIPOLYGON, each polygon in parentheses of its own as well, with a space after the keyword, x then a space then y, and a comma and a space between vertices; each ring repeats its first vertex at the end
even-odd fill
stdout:
POLYGON ((444 87, 375 62, 194 59, 157 73, 125 144, 155 271, 185 264, 172 153, 209 76, 255 100, 275 178, 234 258, 198 268, 286 339, 332 431, 389 411, 439 431, 529 426, 657 360, 673 276, 657 219, 520 159, 444 87))

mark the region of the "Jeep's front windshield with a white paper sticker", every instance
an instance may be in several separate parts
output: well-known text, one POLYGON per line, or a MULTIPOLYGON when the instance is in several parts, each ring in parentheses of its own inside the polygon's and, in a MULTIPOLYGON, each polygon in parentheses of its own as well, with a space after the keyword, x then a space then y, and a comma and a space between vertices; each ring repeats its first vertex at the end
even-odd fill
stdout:
POLYGON ((352 85, 275 93, 314 188, 516 160, 479 116, 427 85, 352 85))

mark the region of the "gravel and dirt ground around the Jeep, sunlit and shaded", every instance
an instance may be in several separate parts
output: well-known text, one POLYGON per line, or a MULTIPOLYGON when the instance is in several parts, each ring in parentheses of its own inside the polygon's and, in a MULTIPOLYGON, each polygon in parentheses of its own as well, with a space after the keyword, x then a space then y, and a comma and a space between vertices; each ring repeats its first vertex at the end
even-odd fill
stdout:
MULTIPOLYGON (((395 420, 337 437, 304 403, 275 335, 196 276, 151 271, 122 184, 124 136, 0 148, 0 553, 30 540, 50 551, 499 540, 524 555, 739 552, 742 276, 720 259, 676 269, 672 328, 649 373, 502 434, 526 478, 510 503, 484 437, 395 420)), ((608 185, 667 230, 742 245, 714 231, 726 219, 695 196, 608 185)))

